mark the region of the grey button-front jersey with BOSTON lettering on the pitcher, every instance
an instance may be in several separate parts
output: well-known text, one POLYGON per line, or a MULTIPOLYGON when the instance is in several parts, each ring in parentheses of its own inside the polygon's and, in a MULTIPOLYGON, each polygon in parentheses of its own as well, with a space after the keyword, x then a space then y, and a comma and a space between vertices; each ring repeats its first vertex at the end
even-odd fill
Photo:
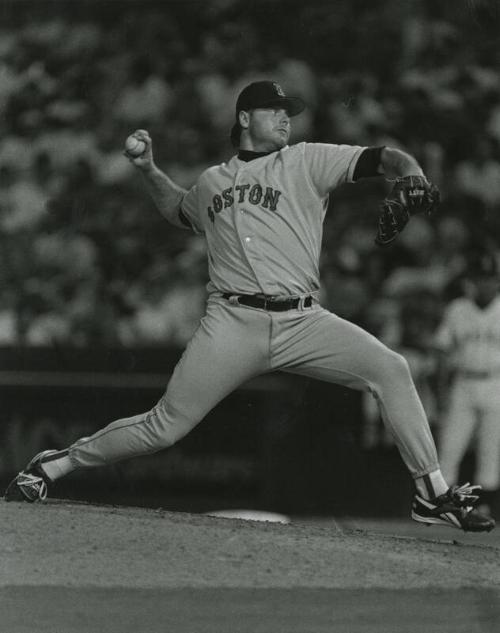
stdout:
POLYGON ((184 197, 182 212, 206 236, 209 290, 317 291, 328 194, 352 181, 364 149, 299 143, 207 169, 184 197))

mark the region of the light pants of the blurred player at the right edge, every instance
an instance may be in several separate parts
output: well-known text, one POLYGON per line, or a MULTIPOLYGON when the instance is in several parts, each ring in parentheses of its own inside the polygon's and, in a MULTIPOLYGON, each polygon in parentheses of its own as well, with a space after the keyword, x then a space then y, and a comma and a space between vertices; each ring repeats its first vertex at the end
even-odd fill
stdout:
POLYGON ((440 434, 443 476, 457 483, 468 449, 476 457, 477 483, 485 490, 500 487, 500 377, 459 377, 453 383, 440 434))

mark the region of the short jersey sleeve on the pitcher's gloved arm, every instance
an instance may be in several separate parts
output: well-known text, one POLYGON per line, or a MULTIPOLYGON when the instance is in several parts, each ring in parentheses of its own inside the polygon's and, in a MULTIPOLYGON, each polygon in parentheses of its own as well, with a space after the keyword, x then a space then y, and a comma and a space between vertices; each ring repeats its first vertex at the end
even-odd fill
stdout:
POLYGON ((353 182, 356 163, 365 149, 359 145, 305 143, 306 169, 320 197, 345 182, 353 182))

